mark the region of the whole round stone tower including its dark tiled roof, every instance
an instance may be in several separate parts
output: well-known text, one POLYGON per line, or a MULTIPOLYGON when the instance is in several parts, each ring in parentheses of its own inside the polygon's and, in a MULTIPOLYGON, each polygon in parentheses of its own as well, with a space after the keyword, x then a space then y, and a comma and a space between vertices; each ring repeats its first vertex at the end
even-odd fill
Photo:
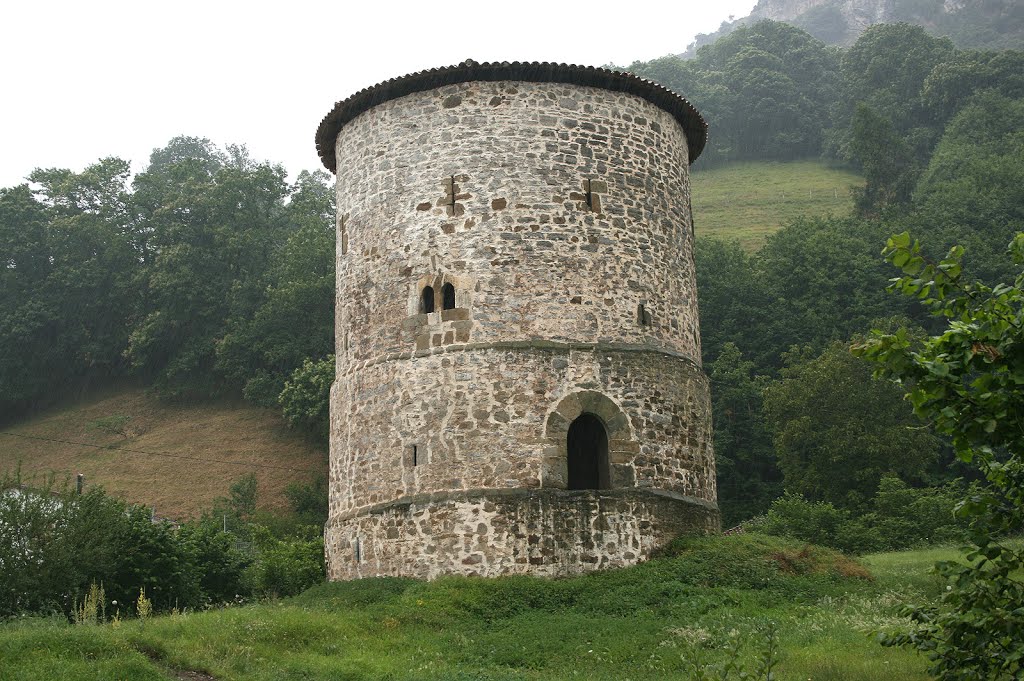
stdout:
POLYGON ((316 131, 337 175, 329 574, 567 574, 719 525, 689 164, 636 76, 464 63, 316 131))

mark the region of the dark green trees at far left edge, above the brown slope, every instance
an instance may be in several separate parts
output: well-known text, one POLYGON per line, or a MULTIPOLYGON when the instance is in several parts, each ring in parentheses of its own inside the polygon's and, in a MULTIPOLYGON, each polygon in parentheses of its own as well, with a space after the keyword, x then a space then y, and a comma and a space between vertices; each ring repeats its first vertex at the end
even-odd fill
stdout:
POLYGON ((0 406, 121 374, 139 272, 129 167, 36 170, 0 190, 0 406))

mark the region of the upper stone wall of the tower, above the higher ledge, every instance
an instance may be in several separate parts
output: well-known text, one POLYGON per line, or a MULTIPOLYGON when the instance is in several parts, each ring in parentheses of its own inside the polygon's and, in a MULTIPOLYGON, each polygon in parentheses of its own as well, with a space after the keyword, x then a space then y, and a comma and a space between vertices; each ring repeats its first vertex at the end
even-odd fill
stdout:
POLYGON ((686 140, 657 107, 465 83, 360 114, 336 150, 340 375, 411 349, 539 338, 699 363, 686 140), (423 286, 444 282, 456 309, 421 314, 423 286))

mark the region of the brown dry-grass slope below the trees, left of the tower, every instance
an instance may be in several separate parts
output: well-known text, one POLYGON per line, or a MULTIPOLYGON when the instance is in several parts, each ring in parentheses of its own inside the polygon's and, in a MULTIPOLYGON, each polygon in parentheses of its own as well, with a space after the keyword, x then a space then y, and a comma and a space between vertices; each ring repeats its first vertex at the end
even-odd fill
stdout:
POLYGON ((160 516, 184 518, 254 472, 259 503, 285 504, 290 482, 327 472, 327 455, 273 411, 245 403, 166 405, 139 388, 114 390, 0 428, 0 472, 85 475, 160 516))

